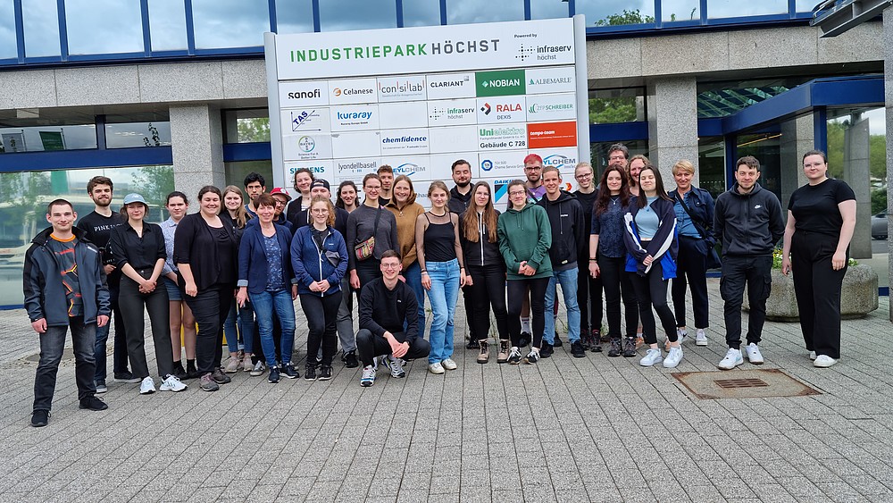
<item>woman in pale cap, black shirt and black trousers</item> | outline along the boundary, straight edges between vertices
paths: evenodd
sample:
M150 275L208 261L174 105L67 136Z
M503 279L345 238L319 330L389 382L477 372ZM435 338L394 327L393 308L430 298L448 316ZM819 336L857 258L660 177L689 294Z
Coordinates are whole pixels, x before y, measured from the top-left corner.
M122 272L118 306L127 323L127 354L130 365L133 365L133 375L143 380L139 385L139 392L143 395L155 392L155 383L146 364L144 309L148 311L149 323L152 324L155 363L162 378L161 390L186 390L186 385L173 375L173 351L168 333L171 306L168 304L167 289L158 285L167 257L164 234L158 225L143 222L147 209L146 199L139 194L124 197L121 214L126 215L127 222L115 227L109 240L115 267Z

